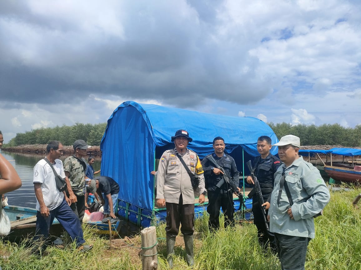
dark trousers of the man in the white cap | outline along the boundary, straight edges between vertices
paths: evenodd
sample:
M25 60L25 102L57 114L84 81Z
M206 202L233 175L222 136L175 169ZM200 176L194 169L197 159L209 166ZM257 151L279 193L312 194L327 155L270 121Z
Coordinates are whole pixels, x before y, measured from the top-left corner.
M282 270L304 270L311 238L274 234Z

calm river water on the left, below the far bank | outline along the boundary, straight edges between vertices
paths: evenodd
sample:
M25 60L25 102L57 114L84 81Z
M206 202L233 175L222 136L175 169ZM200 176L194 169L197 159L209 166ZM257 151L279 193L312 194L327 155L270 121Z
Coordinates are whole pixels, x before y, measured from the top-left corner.
M36 198L34 184L32 183L33 169L35 164L45 157L45 154L19 154L5 151L1 151L1 154L14 166L22 181L21 188L5 194L8 197L8 203L10 205L35 208ZM64 162L66 157L62 156L60 159ZM85 157L85 159L88 160L88 157ZM95 157L93 164L95 171L100 170L100 160L100 156Z

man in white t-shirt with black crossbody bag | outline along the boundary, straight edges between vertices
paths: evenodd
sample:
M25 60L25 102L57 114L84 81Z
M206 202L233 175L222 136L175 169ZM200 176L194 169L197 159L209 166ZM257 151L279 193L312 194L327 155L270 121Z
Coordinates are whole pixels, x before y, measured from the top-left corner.
M63 163L59 159L63 154L60 141L51 141L47 145L45 158L52 164L56 173L65 178ZM65 200L65 192L59 191L55 183L53 168L45 159L41 159L34 167L34 189L36 196L36 231L34 240L49 237L49 229L56 218L71 239L77 243L79 249L87 251L92 246L83 245L83 230L80 221L70 208L70 200Z

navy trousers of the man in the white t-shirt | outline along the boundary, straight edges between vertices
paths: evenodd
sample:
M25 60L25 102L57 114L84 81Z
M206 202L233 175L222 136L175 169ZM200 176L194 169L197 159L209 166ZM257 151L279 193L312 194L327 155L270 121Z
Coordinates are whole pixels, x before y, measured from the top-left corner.
M50 215L48 217L43 217L40 211L37 211L34 240L38 240L42 236L45 238L49 237L50 226L53 224L55 218L68 232L71 239L77 243L77 246L80 246L85 242L83 238L83 229L79 219L74 212L71 211L65 199L57 208L50 211Z

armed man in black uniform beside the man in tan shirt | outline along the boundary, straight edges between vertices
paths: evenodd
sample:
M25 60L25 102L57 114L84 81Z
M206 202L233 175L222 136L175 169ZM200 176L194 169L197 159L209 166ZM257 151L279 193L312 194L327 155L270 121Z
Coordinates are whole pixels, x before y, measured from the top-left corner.
M210 231L219 229L219 211L223 210L225 215L225 228L227 226L234 227L234 207L233 195L230 186L223 179L223 172L215 168L213 163L209 161L212 156L216 163L222 167L229 178L234 182L236 187L239 185L239 172L237 171L234 159L225 154L225 141L222 137L216 137L213 140L214 153L206 156L202 161L204 170L205 185L208 191L208 207L209 213L208 228ZM217 186L218 183L223 184ZM238 188L240 191L240 188Z

